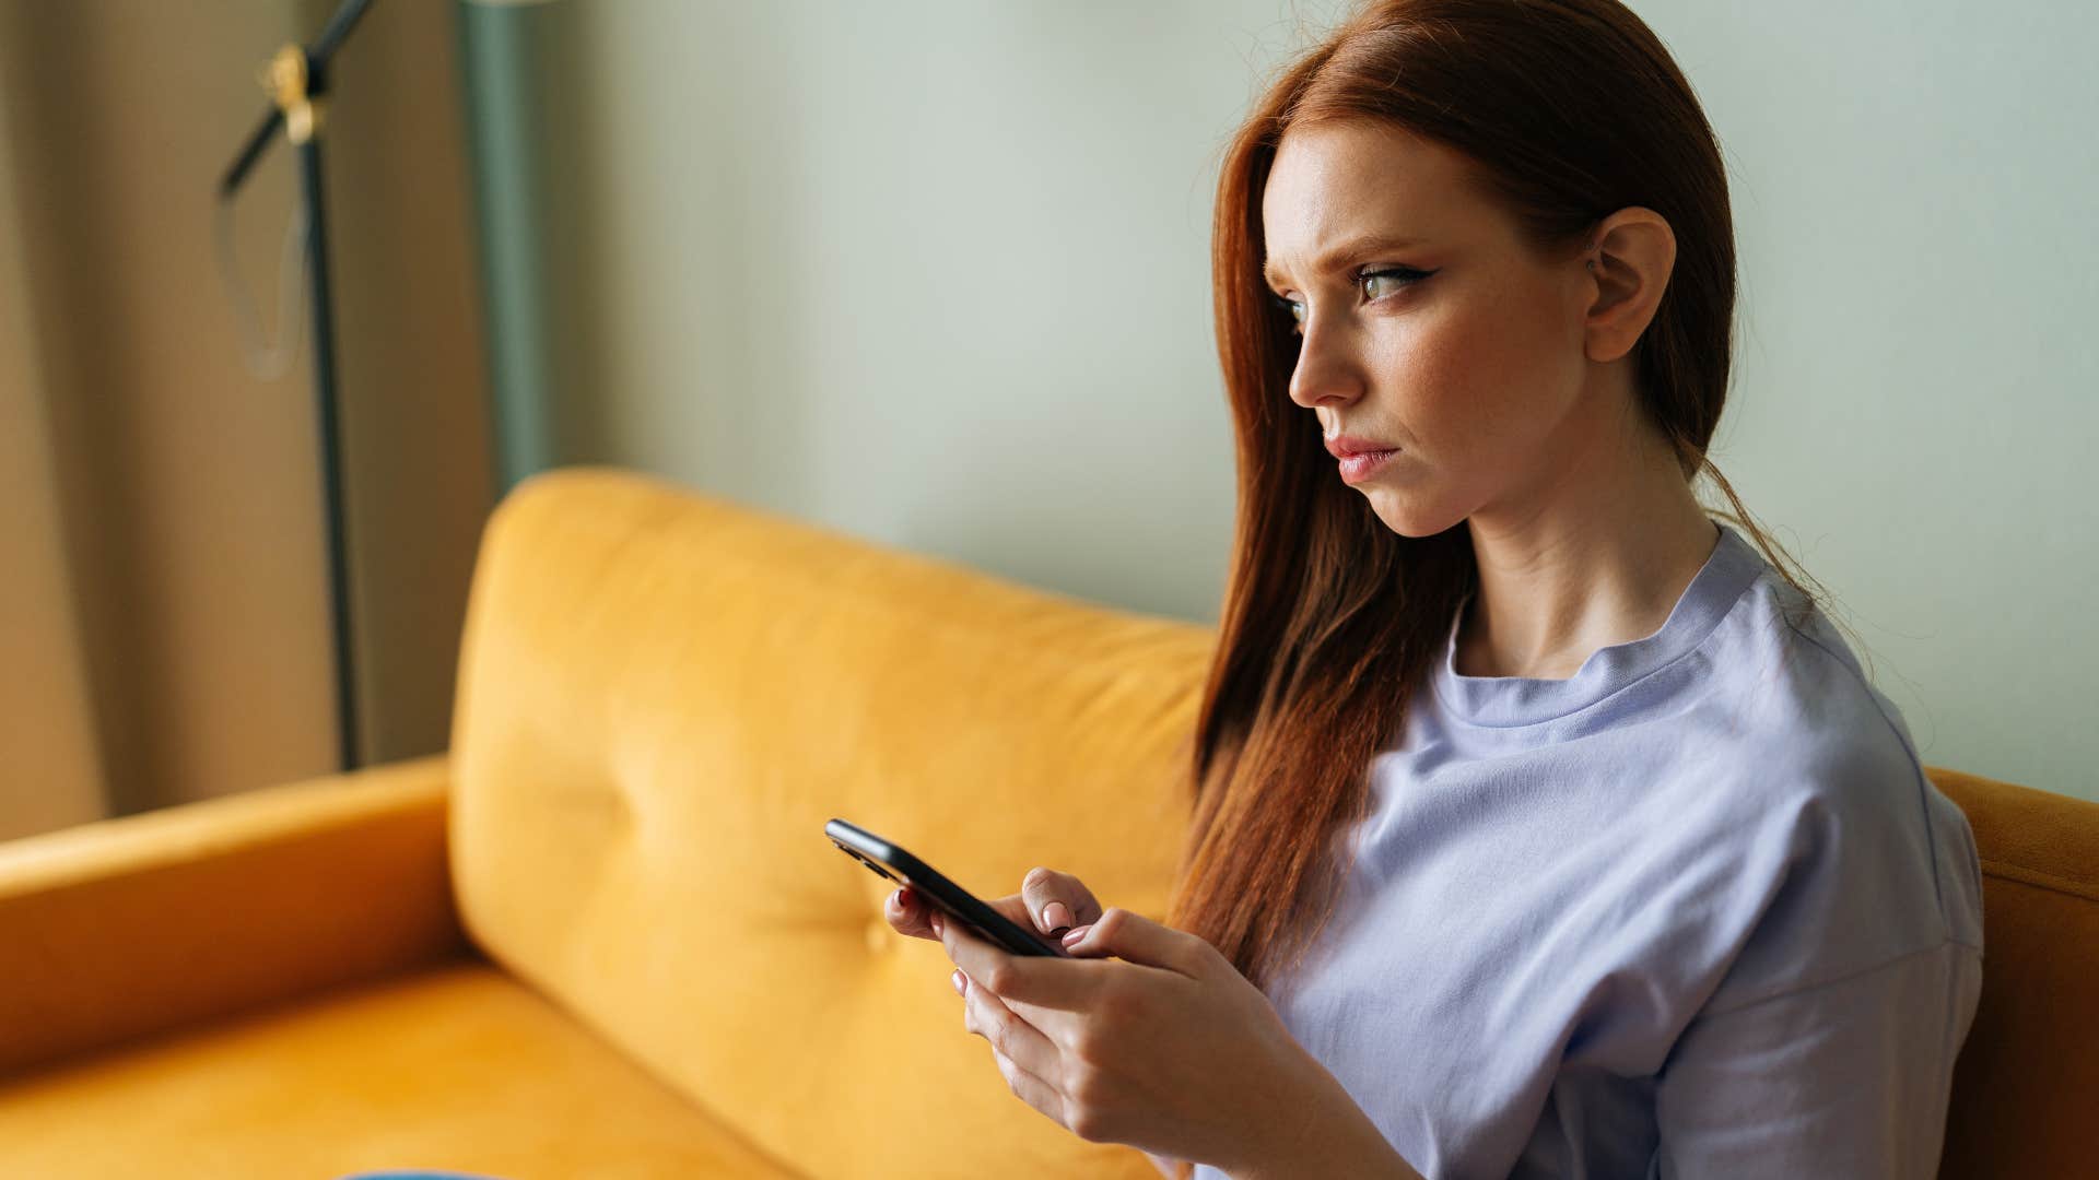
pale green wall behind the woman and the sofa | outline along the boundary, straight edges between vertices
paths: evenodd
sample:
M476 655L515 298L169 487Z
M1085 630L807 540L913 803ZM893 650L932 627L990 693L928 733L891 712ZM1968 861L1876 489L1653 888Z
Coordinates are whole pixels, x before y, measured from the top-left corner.
M2099 798L2099 10L1633 8L1730 166L1742 298L1715 460L1835 594L1925 762ZM476 10L544 111L544 332L497 349L560 376L510 428L539 454L512 462L632 464L1215 621L1217 153L1339 10Z

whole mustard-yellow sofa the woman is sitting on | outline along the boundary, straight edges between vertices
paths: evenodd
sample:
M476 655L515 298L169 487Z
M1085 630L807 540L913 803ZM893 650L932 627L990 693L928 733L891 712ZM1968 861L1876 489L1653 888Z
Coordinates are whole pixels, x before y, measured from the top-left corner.
M0 844L0 1178L1157 1176L1005 1090L823 823L1163 918L1211 642L535 477L447 754ZM1931 775L1988 873L1942 1176L2089 1176L2099 804Z

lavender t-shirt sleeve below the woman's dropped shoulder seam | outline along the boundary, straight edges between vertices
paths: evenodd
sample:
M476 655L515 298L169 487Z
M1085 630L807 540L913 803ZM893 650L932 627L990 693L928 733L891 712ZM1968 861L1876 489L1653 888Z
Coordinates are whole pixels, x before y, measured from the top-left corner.
M1981 953L1939 943L1700 1012L1656 1077L1650 1178L1933 1176Z

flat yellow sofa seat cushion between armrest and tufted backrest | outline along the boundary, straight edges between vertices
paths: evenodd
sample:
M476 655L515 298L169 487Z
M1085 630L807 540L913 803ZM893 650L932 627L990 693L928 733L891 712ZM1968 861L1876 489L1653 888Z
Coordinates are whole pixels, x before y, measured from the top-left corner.
M793 1176L485 960L0 1079L0 1176L409 1165Z

